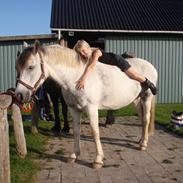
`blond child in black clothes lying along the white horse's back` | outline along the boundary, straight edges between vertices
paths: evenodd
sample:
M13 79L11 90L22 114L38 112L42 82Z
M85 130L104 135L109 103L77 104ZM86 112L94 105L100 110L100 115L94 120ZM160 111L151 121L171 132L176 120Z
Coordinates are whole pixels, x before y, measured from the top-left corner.
M134 68L132 68L131 65L122 56L116 55L114 53L106 53L99 48L90 47L90 45L85 40L79 40L74 46L74 50L76 50L81 55L85 62L89 60L84 73L77 81L77 89L84 88L84 83L87 76L94 68L96 62L99 61L105 64L115 65L119 67L129 78L140 82L143 91L150 88L153 95L157 94L157 88L155 85L146 77L139 74Z

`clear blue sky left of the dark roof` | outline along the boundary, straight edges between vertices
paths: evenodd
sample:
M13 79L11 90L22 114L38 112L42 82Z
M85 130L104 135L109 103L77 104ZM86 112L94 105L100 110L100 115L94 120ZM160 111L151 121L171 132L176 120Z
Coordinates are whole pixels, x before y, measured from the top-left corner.
M49 34L52 0L0 0L0 36Z

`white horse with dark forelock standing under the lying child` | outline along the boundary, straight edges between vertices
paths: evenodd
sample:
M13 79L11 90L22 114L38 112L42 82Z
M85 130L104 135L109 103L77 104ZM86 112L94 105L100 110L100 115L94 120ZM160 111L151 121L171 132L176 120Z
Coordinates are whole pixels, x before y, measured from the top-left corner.
M156 69L149 62L130 58L128 62L140 73L157 82ZM142 91L137 81L124 74L116 66L97 63L88 77L85 87L76 90L76 81L80 78L86 64L72 49L60 46L40 46L36 41L33 47L24 49L17 59L16 69L19 73L16 96L25 102L45 78L51 77L63 88L63 95L73 117L74 151L70 159L74 162L80 154L80 116L87 112L96 144L94 168L103 165L104 153L100 142L98 110L119 109L134 102L142 121L140 147L145 150L148 136L154 129L155 100L150 90Z

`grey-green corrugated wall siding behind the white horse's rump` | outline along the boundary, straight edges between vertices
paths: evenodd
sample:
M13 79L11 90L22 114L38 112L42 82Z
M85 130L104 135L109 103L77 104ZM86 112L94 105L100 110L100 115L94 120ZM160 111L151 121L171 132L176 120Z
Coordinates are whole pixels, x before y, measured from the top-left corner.
M158 71L158 103L182 102L183 38L165 36L106 37L105 50L130 51L151 62Z

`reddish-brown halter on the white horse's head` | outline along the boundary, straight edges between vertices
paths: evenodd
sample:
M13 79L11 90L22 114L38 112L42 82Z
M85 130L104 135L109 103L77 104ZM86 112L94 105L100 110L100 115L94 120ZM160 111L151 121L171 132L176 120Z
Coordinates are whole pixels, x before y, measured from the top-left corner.
M25 83L24 81L20 80L19 78L17 78L17 84L20 83L22 84L23 86L25 86L27 89L29 89L31 92L32 92L32 95L31 96L34 96L35 95L35 92L37 90L37 87L39 86L40 82L42 79L45 79L45 72L44 72L44 62L43 62L43 59L42 59L42 56L41 54L39 53L39 57L41 59L41 75L38 79L38 81L34 84L34 86L30 86L28 85L27 83Z

